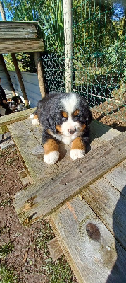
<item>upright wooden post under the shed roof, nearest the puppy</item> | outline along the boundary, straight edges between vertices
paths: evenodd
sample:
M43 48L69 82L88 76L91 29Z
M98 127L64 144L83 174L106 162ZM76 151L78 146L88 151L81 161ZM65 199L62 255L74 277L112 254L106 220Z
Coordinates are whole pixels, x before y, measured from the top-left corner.
M40 52L34 52L34 61L37 68L37 76L39 81L39 88L42 95L42 98L46 95L46 89L44 85L44 72L42 68L42 60L40 59Z

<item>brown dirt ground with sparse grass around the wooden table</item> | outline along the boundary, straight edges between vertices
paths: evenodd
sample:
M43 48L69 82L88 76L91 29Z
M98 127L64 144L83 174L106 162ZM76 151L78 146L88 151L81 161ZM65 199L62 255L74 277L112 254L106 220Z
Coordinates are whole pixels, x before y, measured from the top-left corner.
M92 110L93 117L123 132L124 108L116 115L102 109ZM100 113L100 114L99 114ZM46 221L30 227L20 224L13 207L13 195L24 188L18 174L24 168L15 146L0 151L0 280L1 283L77 283L64 256L53 262L47 243L54 237Z

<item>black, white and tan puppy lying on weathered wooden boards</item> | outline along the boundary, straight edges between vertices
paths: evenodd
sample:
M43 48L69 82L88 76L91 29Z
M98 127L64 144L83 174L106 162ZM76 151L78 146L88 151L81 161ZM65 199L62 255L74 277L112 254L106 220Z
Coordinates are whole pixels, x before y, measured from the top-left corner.
M37 104L32 124L42 124L44 161L58 161L59 142L70 144L70 158L82 158L89 142L89 124L92 113L83 96L77 93L49 93Z

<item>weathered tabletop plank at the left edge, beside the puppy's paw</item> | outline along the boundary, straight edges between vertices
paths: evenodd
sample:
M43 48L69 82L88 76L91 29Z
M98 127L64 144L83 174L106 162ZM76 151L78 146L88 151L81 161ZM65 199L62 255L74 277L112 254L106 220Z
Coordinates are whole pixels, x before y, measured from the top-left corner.
M51 175L53 168L46 166L46 163L44 163L44 149L42 145L39 144L39 141L37 141L23 121L8 125L8 129L15 144L18 146L18 150L25 161L25 166L31 177L37 181L40 178Z

